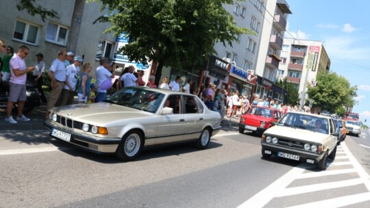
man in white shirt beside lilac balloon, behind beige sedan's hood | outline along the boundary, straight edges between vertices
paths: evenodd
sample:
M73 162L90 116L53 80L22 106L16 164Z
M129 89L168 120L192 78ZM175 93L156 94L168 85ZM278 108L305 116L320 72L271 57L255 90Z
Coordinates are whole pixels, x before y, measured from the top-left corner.
M114 78L114 74L110 73L110 71L107 68L110 68L109 61L106 57L102 57L99 61L100 66L97 68L96 71L96 86L98 88L97 90L97 96L95 97L95 103L99 103L106 99L107 90L101 90L100 86L103 81L106 79Z

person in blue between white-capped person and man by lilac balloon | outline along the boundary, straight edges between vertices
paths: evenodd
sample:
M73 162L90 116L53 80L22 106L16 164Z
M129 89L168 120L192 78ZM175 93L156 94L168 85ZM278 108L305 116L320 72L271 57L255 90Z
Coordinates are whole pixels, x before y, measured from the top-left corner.
M94 84L91 83L90 76L88 75L91 69L90 63L85 63L81 68L78 83L79 88L77 90L78 103L87 103L90 94L90 86L95 88Z

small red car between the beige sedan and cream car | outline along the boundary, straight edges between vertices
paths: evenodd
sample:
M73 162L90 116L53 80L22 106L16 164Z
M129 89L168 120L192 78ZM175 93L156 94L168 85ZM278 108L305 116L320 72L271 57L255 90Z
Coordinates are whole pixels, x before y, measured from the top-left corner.
M263 133L269 129L282 117L282 112L271 107L254 106L247 114L241 116L239 122L239 133L244 133L244 130L250 130L258 133Z

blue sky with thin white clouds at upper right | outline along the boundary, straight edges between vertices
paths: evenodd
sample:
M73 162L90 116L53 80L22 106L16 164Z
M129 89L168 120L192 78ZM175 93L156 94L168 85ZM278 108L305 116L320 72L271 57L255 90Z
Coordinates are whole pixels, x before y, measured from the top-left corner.
M322 40L331 61L330 70L357 86L354 112L370 126L370 1L286 0L285 37Z

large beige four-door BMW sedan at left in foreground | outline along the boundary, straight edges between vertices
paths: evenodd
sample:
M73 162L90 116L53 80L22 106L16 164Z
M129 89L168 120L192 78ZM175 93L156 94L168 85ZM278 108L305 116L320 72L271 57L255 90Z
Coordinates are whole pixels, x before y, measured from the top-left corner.
M130 161L147 146L193 141L208 146L221 116L195 95L146 87L124 88L105 101L50 110L53 138Z

